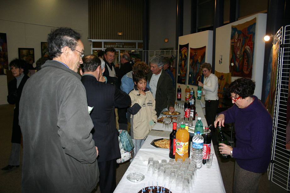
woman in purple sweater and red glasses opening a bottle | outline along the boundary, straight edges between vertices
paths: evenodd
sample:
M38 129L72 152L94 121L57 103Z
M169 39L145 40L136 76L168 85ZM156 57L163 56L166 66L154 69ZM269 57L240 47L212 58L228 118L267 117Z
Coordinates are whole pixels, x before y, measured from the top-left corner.
M255 83L248 78L233 81L228 92L234 106L220 113L215 127L235 123L236 147L220 143L220 153L236 159L233 192L258 192L262 173L271 158L272 117L254 96Z

